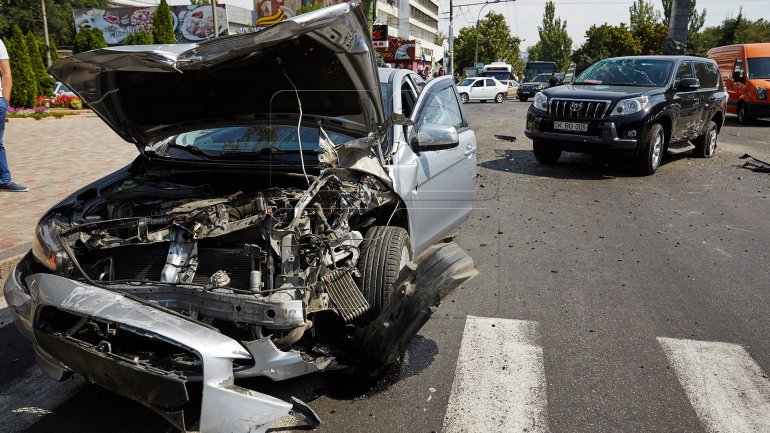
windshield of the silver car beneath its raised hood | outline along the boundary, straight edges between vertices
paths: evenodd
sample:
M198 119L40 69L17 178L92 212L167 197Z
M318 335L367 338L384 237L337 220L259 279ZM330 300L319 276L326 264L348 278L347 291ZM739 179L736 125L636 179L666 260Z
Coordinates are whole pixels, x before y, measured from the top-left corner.
M321 152L318 127L300 127L303 153ZM353 137L325 131L339 145ZM272 157L275 154L299 154L300 140L296 126L237 125L187 131L166 137L149 146L155 155L176 159L244 159Z

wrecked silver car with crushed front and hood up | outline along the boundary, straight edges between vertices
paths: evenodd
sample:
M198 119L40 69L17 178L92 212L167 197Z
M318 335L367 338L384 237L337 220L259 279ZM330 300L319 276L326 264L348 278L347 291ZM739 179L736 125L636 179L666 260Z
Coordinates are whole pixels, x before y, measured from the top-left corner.
M316 425L236 381L393 363L475 274L448 239L476 172L452 79L378 70L355 5L51 72L140 152L44 215L5 283L52 378L81 374L180 430L192 383L201 432L289 412Z

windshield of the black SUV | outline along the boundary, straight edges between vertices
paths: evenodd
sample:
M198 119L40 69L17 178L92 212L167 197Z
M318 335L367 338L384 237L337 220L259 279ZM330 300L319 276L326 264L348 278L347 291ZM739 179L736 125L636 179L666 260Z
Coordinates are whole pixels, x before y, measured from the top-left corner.
M573 84L663 87L673 65L672 60L606 59L583 71Z

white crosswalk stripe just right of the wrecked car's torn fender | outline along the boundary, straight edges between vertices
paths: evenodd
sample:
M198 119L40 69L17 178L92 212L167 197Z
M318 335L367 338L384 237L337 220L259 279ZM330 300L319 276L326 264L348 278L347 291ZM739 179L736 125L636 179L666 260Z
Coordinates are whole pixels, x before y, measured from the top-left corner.
M468 316L444 432L548 432L537 340L537 322Z

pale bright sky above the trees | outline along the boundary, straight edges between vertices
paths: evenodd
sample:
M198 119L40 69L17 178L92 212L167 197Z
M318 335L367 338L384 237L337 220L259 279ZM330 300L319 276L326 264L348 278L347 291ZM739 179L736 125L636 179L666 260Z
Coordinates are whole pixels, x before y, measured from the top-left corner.
M457 36L462 27L475 25L481 11L482 17L493 10L503 14L511 28L511 33L523 39L522 50L534 45L539 40L537 28L543 22L543 12L546 0L515 0L483 6L460 6L463 4L482 3L484 0L454 0L454 34ZM573 48L578 48L585 42L585 32L593 24L605 22L618 25L628 24L628 9L634 0L554 0L556 17L567 21L567 32L572 38ZM439 30L449 34L449 0L440 0ZM653 4L662 11L662 2L653 0ZM719 25L725 18L735 17L743 7L743 16L757 20L770 18L768 0L697 0L698 10L706 9L706 24L704 27ZM446 12L446 13L445 13Z

